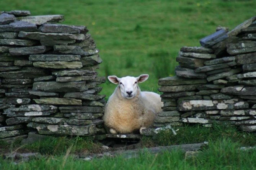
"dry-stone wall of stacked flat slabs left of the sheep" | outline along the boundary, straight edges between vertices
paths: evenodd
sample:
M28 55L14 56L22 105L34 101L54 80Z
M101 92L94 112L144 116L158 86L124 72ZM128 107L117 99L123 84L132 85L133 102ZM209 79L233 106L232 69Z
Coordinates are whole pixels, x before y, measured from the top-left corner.
M57 24L62 15L29 15L0 12L0 139L104 133L105 78L88 30Z

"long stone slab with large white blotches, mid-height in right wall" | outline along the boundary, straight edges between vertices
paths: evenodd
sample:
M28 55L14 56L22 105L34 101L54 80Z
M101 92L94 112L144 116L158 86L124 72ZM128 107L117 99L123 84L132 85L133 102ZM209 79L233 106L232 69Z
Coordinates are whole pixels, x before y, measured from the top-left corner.
M214 109L246 109L249 104L239 99L184 100L178 103L179 111L200 111Z

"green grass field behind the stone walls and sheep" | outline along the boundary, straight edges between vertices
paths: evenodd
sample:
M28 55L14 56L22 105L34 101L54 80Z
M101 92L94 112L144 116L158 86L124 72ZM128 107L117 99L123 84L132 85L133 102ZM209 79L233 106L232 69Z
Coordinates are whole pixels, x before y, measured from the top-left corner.
M200 46L217 26L233 29L256 15L254 0L2 0L0 7L63 14L63 24L87 26L103 59L99 75L149 74L140 85L147 91L157 91L159 78L174 75L181 47ZM108 97L115 85L102 87Z

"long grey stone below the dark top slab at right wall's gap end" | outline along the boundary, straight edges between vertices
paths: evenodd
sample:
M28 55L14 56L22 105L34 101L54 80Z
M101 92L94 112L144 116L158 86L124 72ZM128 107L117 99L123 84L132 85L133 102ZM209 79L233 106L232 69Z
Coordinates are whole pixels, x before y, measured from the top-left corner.
M196 90L200 84L194 85L176 85L176 86L162 86L158 89L160 92L180 92Z

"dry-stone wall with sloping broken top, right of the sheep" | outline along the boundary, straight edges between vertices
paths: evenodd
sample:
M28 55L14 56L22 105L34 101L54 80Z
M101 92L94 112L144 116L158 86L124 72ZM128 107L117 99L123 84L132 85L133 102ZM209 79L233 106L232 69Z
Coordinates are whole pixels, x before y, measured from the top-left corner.
M164 102L155 126L230 123L256 131L256 16L182 47L174 77L159 80Z

